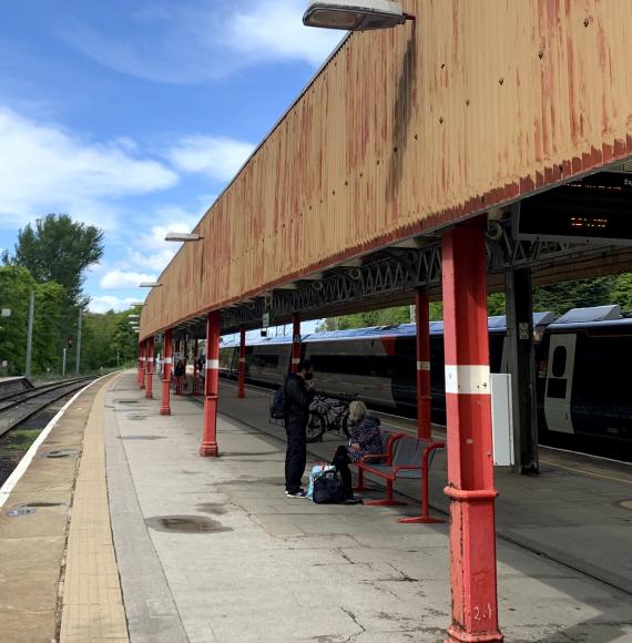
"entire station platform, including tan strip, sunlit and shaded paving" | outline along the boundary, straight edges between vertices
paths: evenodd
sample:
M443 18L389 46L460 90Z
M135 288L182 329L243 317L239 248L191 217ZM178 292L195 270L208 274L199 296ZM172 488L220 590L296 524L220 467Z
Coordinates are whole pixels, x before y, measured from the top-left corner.
M415 486L396 486L410 499L402 508L286 498L283 429L267 422L267 394L247 396L237 400L222 384L216 459L198 456L201 405L174 397L172 416L160 416L135 371L79 396L6 493L2 640L441 641L448 525L396 521L417 512ZM310 445L308 467L337 441ZM51 451L68 456L45 458ZM441 458L431 489L439 510ZM619 540L630 534L630 481L625 471L606 479L571 468L551 466L550 478L532 482L498 476L507 641L632 641L632 595L621 582L630 579L630 539ZM14 513L29 503L35 511ZM598 525L615 518L621 533L613 529L609 551L590 563L601 575L608 568L612 582L555 560L558 551L590 558L605 533ZM573 549L581 540L585 557Z

